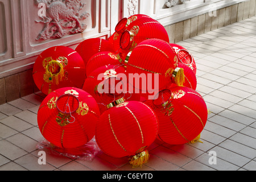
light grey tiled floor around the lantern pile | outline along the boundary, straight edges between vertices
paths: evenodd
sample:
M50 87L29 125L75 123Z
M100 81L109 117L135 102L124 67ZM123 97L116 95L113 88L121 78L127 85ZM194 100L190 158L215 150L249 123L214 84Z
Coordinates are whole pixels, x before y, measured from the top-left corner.
M256 18L177 44L194 56L197 91L211 111L203 143L156 140L142 168L102 151L93 160L47 154L46 165L39 165L36 144L43 137L36 113L43 97L37 93L0 106L0 170L256 170ZM209 163L210 151L216 164Z

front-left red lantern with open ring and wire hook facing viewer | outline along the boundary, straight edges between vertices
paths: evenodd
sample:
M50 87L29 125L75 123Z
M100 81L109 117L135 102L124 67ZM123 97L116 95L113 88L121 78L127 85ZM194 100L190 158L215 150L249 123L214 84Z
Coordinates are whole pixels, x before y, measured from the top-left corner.
M75 148L94 137L99 116L90 94L77 88L60 88L44 98L38 110L38 126L43 137L55 146Z

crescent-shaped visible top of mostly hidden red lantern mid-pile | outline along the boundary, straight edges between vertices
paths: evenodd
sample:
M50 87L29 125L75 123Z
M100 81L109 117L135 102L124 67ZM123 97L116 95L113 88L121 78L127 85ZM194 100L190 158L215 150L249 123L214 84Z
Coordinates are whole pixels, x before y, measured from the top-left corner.
M86 65L86 75L90 75L95 69L105 65L120 65L117 56L113 52L98 52L90 57Z

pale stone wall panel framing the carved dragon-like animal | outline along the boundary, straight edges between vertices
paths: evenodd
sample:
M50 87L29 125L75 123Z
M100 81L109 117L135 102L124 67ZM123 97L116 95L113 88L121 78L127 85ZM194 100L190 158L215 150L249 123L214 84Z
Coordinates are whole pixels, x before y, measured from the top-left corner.
M108 32L101 34L100 31L102 1L24 1L24 7L28 11L25 18L28 51L39 51L55 45L70 46L82 39L108 35Z

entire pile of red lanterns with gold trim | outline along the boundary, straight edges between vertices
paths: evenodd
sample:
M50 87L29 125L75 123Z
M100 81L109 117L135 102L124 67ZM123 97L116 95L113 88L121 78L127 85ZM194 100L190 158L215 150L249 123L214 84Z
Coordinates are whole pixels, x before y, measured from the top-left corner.
M46 49L33 77L47 95L38 110L40 132L63 150L95 137L105 154L128 156L137 167L155 139L193 143L207 122L195 59L147 15L123 18L108 40Z

